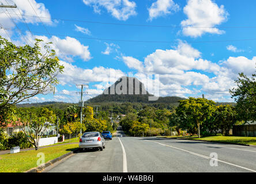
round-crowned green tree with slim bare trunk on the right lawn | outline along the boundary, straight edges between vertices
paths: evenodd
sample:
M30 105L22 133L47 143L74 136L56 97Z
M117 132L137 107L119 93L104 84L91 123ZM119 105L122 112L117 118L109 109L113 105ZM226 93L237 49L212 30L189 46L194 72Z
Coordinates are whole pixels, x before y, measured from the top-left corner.
M176 113L179 116L186 114L187 121L197 125L198 137L200 137L200 125L212 117L216 111L215 102L205 98L192 98L181 100Z

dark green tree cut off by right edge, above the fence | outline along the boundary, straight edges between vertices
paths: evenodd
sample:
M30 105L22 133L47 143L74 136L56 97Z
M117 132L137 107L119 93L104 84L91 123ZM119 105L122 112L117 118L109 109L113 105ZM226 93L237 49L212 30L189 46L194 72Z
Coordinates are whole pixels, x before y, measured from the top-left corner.
M251 79L243 73L235 83L238 85L236 88L229 90L232 97L235 98L236 112L239 114L240 120L256 120L256 74L253 74Z

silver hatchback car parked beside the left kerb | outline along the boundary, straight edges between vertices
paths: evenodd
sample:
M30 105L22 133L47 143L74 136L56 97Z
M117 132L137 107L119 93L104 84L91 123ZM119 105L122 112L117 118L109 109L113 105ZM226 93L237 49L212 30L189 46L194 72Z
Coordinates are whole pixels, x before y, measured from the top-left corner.
M79 148L100 148L102 151L106 147L106 140L100 132L86 132L79 141Z

